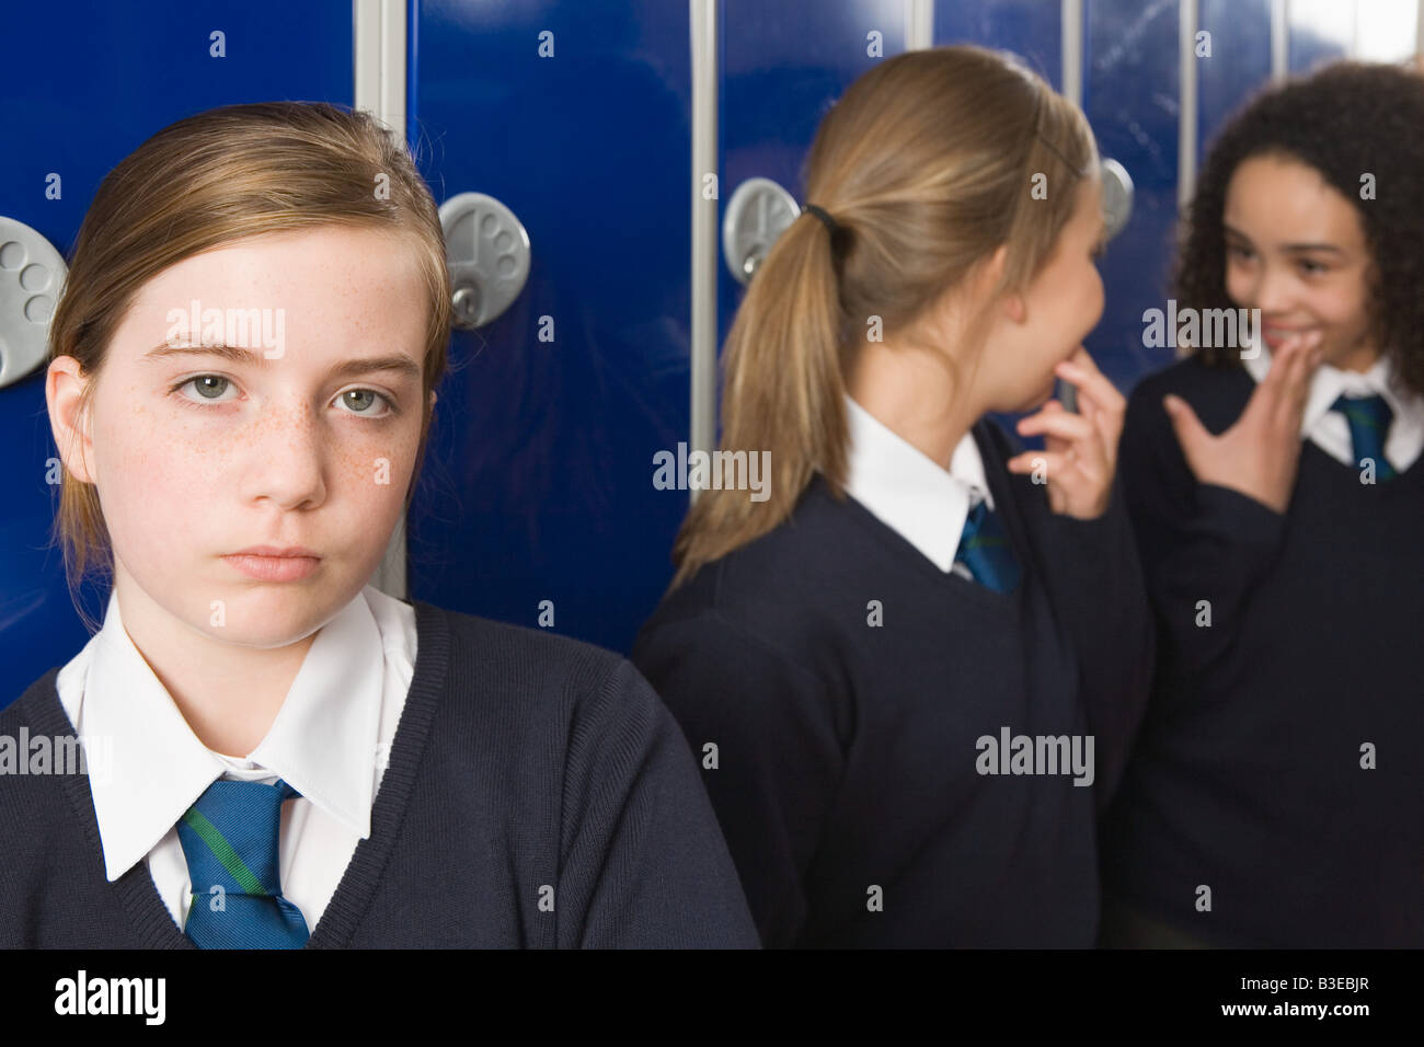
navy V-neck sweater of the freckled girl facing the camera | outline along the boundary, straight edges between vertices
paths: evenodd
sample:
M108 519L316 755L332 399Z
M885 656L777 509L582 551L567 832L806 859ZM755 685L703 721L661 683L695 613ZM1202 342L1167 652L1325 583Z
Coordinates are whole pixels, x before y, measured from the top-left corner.
M627 661L414 608L372 835L306 947L756 946L686 741ZM57 672L0 734L74 734ZM105 880L83 775L0 776L0 947L34 946L192 947L147 863Z

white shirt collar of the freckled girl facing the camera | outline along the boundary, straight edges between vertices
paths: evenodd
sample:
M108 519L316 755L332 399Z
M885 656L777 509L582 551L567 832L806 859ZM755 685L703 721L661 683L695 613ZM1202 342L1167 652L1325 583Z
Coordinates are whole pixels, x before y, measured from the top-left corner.
M124 630L118 594L111 593L104 627L57 679L85 752L107 756L90 791L108 879L152 850L228 772L275 773L363 839L370 836L383 665L380 630L365 593L357 594L318 631L266 736L234 764L188 726Z

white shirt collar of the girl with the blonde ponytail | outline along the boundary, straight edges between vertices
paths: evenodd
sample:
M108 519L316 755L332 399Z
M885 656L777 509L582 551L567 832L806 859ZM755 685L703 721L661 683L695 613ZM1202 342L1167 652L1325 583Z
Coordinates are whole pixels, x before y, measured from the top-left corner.
M977 501L994 509L974 434L964 433L946 472L849 396L846 420L846 493L941 571L970 577L954 563L964 521Z

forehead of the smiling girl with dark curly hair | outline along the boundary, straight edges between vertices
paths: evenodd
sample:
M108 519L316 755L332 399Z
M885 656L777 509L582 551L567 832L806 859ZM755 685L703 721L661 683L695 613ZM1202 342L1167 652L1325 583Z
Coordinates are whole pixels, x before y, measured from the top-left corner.
M1316 168L1289 157L1242 161L1226 187L1225 219L1242 232L1290 241L1356 242L1360 218Z

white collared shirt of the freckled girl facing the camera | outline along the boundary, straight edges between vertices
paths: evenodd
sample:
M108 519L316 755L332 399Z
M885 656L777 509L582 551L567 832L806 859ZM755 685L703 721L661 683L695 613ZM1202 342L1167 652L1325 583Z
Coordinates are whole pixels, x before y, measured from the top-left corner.
M370 836L414 661L414 608L366 585L318 631L261 744L246 759L225 756L188 726L111 593L104 627L56 679L88 758L107 877L147 859L182 929L192 897L178 819L218 778L282 778L300 793L282 805L282 896L315 930L356 845Z

